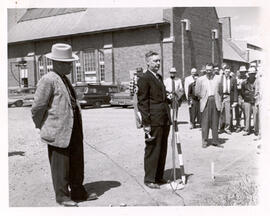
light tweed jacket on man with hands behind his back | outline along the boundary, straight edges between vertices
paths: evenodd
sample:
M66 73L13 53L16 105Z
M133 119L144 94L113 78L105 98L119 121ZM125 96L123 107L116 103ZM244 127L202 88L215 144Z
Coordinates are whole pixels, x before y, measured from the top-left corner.
M80 111L77 100L76 104ZM49 72L39 80L31 112L36 128L40 129L42 142L60 148L68 147L74 113L67 88L55 72Z

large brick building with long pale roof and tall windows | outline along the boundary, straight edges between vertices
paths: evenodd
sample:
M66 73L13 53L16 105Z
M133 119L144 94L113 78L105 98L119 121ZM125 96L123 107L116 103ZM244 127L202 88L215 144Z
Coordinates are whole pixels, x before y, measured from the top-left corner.
M183 78L223 59L214 7L9 9L8 86L35 86L52 70L44 55L57 42L80 57L73 83L128 82L129 71L145 68L149 50L160 53L165 78L172 66Z

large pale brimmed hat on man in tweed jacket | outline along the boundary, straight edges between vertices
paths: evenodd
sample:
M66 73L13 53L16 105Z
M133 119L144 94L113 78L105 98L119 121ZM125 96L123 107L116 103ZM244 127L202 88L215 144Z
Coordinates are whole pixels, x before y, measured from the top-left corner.
M72 53L72 48L68 44L57 43L52 45L52 52L45 55L47 58L55 61L71 62L79 57Z

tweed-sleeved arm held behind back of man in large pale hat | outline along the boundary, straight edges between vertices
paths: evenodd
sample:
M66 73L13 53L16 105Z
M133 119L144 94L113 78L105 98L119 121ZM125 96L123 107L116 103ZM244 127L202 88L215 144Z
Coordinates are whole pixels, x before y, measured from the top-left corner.
M53 94L53 83L47 77L42 77L38 83L37 90L32 105L32 119L36 128L41 129Z

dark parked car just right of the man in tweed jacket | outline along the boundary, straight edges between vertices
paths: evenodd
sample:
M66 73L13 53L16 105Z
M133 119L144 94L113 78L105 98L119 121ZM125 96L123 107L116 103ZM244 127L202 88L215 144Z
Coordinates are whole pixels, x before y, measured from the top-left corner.
M77 84L74 88L82 108L110 104L110 95L118 92L116 85Z

